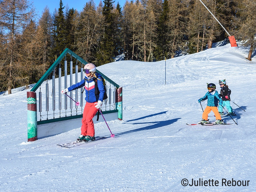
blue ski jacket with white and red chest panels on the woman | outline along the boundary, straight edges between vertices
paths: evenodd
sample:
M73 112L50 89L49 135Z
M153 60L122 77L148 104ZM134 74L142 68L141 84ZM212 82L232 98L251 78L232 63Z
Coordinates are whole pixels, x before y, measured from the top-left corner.
M100 74L96 73L95 75L99 79L102 79ZM94 82L93 79L95 79L95 77L90 79L87 76L85 76L85 78L82 81L80 81L79 83L73 84L70 87L68 87L68 91L72 91L72 90L84 87L85 88L85 100L86 100L86 102L94 103L98 100L103 101L103 96L104 96L104 93L105 93L103 82L100 81L99 79L97 79L97 85L98 85L98 89L99 89L100 94L95 95L95 82Z

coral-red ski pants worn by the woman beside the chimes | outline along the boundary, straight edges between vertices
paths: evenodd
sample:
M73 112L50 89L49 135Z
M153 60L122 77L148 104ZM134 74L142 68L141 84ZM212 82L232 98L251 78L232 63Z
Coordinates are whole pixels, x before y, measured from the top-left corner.
M81 127L82 135L84 136L89 135L94 137L95 130L94 130L94 124L93 124L92 118L96 115L98 110L99 109L95 107L94 103L86 102L84 106L84 113L83 113L82 127Z

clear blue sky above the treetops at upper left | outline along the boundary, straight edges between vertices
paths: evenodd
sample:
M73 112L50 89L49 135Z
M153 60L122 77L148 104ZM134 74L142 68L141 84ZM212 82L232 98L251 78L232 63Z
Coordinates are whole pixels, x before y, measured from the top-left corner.
M38 15L40 16L44 10L44 7L46 5L49 7L50 12L52 13L54 9L56 8L57 10L59 9L60 6L60 0L29 0L29 2L34 2L34 6L36 7L36 11L38 12ZM103 0L101 0L103 3ZM115 0L114 4L119 4L121 7L124 6L126 0ZM68 4L68 7L77 9L78 11L81 11L86 2L89 2L89 0L62 0L63 6L66 6ZM129 0L130 2L130 0ZM100 3L100 0L94 0L94 3L96 6Z

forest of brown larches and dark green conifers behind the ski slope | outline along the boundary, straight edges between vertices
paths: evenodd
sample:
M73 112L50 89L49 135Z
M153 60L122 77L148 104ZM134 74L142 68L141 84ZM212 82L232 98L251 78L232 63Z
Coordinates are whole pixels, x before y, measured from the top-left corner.
M170 59L228 37L199 0L135 0L123 8L114 2L96 6L89 0L77 11L65 9L60 0L58 10L51 13L46 6L37 15L28 0L0 0L0 92L36 83L65 48L100 66L120 54L125 60ZM248 47L250 60L256 47L256 1L203 2L239 45ZM58 68L54 73L58 77Z

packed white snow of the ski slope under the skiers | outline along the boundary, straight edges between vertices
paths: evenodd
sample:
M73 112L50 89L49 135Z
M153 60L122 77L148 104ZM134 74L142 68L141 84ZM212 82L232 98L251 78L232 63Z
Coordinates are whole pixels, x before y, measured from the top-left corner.
M123 87L123 120L106 119L114 138L105 122L95 123L95 136L107 139L74 148L56 144L76 140L81 127L28 142L30 89L2 93L0 191L256 191L256 59L247 55L226 44L166 61L98 67ZM220 92L220 79L232 91L238 125L229 116L223 119L231 125L187 125L202 119L198 99L207 83ZM212 112L209 119L215 121Z

